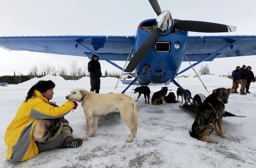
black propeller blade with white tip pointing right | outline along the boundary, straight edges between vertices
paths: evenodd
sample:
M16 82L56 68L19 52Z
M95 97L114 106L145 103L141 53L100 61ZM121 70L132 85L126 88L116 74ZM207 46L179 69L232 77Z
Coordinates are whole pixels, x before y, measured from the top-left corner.
M192 21L192 20L174 21L174 27L180 30L205 32L205 33L236 31L235 26L229 26L225 24L211 23L211 22Z

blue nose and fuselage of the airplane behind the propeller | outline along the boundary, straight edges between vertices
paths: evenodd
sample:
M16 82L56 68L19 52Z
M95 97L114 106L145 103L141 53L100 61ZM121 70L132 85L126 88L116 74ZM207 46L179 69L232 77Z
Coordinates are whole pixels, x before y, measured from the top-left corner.
M134 39L133 54L154 31L155 19L142 21ZM147 56L135 69L140 85L165 83L175 77L184 58L188 31L161 34Z

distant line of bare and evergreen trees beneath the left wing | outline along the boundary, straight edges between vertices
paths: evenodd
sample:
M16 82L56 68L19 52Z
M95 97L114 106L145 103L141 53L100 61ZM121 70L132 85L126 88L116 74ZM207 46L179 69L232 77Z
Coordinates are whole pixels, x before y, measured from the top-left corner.
M30 80L34 77L43 77L46 75L59 75L63 77L65 80L78 80L84 76L89 76L89 72L87 70L87 66L85 65L83 68L79 67L76 61L72 61L69 64L69 67L65 66L56 66L51 65L50 63L42 63L40 66L34 65L28 74L16 74L14 71L13 75L3 75L0 76L0 82L8 83L8 84L18 84L22 83L24 81ZM105 70L104 73L102 73L102 77L120 77L120 72L108 72Z

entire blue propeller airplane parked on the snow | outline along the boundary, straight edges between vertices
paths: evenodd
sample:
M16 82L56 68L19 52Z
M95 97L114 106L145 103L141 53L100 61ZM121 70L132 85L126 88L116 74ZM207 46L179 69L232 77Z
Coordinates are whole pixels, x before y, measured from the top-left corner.
M97 55L101 60L123 70L123 76L131 75L128 87L172 82L192 66L215 58L256 55L254 35L188 36L194 32L232 32L236 27L173 19L168 10L161 11L157 0L149 0L157 19L139 23L135 36L19 36L0 37L0 47L7 50L31 51L71 56ZM129 63L124 69L113 61ZM197 61L179 71L182 61ZM125 83L126 81L124 81Z

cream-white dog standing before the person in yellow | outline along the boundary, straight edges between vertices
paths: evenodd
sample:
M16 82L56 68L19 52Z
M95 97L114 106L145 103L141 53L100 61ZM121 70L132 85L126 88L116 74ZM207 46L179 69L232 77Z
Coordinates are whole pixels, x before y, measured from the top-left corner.
M97 131L98 116L116 111L120 112L123 121L130 129L130 137L126 142L132 142L138 127L138 114L136 104L131 97L124 94L97 94L83 89L74 89L66 96L67 100L81 102L86 115L86 141L94 137ZM91 119L93 117L93 131L90 134Z

